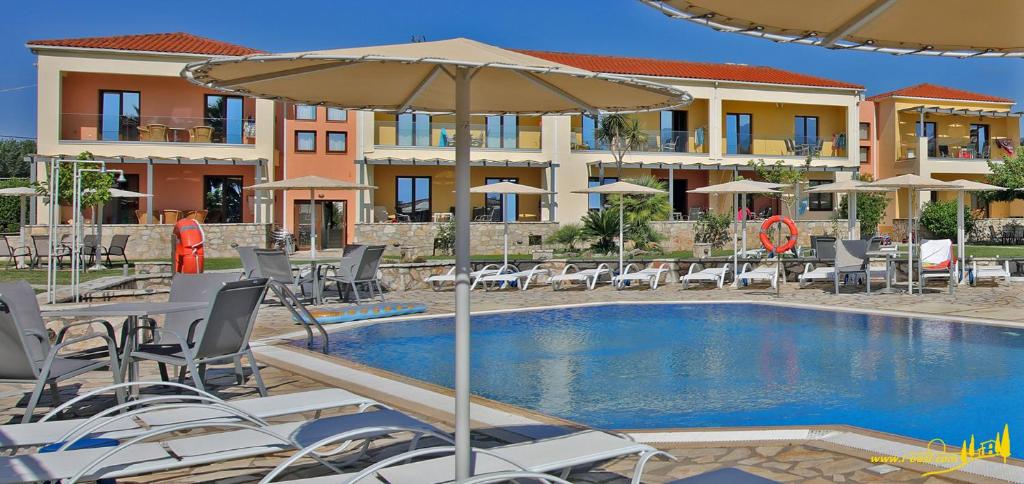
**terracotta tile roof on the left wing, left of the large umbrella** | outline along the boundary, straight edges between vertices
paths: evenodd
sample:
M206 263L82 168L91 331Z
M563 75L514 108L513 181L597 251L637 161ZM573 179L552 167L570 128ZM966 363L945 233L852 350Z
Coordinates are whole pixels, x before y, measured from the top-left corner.
M83 37L78 39L32 40L31 46L76 47L85 49L135 50L140 52L166 52L207 55L248 55L263 53L261 50L208 39L184 32L167 34L121 35L112 37Z

